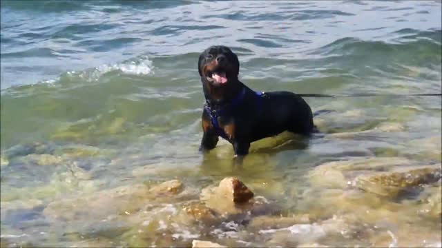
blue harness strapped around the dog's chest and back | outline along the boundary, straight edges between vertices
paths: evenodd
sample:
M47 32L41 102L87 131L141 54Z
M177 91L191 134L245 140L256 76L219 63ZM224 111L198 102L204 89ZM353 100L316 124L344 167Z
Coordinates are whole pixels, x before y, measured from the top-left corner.
M210 116L210 120L211 123L213 125L213 127L215 128L215 132L218 134L218 136L221 136L222 138L224 138L225 140L229 140L229 138L227 137L226 133L224 132L224 130L222 130L222 128L220 127L220 125L218 124L218 117L219 116L225 116L227 115L227 113L231 110L233 110L236 105L238 105L242 99L244 99L244 95L246 93L246 89L242 88L240 94L238 94L238 96L236 96L235 99L233 99L231 101L231 103L227 104L226 107L220 109L220 110L211 110L211 108L209 107L209 102L206 101L206 105L204 105L204 111L209 114ZM256 96L258 96L258 110L261 109L261 96L264 94L264 92L255 92Z

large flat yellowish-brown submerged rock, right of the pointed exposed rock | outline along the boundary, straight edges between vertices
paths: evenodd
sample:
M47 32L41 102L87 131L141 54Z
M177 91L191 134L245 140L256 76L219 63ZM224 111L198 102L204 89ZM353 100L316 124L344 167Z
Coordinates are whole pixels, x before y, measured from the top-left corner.
M395 197L441 178L440 165L412 166L413 163L401 157L333 161L309 172L309 180L313 187L344 189L351 185L365 192Z

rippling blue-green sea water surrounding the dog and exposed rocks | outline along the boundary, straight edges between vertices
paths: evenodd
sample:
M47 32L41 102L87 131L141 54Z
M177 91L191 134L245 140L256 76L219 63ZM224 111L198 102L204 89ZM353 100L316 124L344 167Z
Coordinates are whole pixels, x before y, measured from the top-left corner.
M1 247L441 247L440 96L306 98L332 110L315 119L322 134L253 143L238 168L226 141L198 152L197 68L205 48L227 45L257 91L441 93L441 12L441 1L2 0ZM265 210L185 211L227 176ZM168 180L184 192L157 195Z

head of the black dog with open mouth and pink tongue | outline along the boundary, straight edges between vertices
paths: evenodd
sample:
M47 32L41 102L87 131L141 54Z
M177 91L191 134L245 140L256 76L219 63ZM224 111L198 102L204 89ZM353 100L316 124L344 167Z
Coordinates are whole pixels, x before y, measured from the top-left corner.
M240 61L238 56L223 45L214 45L200 54L198 72L201 80L215 87L238 81Z

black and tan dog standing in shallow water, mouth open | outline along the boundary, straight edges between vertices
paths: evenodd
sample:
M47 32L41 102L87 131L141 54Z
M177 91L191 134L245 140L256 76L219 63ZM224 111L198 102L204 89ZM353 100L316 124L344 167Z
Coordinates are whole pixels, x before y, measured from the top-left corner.
M257 93L238 80L238 56L225 46L200 54L198 72L206 103L200 150L213 149L218 136L233 145L235 156L249 153L250 143L284 131L308 135L315 130L309 105L292 92Z

